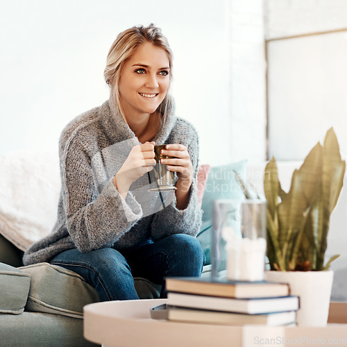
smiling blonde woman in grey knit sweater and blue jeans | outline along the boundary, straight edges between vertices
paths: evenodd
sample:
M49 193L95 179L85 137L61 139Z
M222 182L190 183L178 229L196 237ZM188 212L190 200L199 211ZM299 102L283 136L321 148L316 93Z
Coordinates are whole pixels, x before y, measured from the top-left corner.
M205 256L195 236L198 136L174 115L172 53L151 24L120 33L108 53L110 100L71 121L60 137L58 219L24 264L50 262L79 273L101 301L137 299L133 276L162 285L167 276L200 276ZM176 190L149 192L154 144Z

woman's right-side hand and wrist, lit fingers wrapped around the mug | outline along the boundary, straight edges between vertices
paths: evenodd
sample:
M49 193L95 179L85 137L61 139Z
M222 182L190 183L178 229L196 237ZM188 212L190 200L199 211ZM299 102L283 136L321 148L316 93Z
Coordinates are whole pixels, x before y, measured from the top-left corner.
M187 147L183 144L167 144L161 153L174 157L160 161L162 164L167 164L169 171L177 174L176 207L183 210L189 203L190 187L193 182L193 165Z

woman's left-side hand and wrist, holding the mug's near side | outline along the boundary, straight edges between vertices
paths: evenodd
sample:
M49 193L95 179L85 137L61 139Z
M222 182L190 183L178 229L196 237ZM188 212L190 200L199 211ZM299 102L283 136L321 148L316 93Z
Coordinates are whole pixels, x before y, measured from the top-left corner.
M155 142L146 142L134 146L117 172L115 185L124 198L128 194L130 185L155 166L154 144Z

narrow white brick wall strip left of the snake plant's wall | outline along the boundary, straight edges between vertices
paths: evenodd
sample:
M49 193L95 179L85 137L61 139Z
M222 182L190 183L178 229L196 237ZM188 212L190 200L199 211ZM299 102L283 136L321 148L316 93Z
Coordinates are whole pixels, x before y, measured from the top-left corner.
M266 61L264 8L260 0L231 0L230 155L266 160Z

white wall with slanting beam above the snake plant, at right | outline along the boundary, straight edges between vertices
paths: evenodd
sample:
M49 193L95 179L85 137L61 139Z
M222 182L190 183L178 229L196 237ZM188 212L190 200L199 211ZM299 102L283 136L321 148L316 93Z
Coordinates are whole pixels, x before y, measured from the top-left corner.
M266 1L269 154L278 160L303 160L332 126L347 157L346 13L344 0Z

